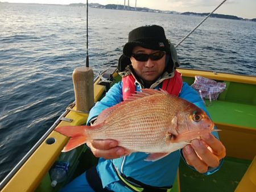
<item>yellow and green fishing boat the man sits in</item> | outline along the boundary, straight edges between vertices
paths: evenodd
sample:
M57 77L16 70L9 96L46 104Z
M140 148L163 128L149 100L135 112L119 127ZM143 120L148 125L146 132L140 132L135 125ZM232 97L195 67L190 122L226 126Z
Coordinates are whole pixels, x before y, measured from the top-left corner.
M85 67L84 67L85 68ZM225 82L226 90L217 100L207 105L213 122L219 132L220 140L226 147L224 164L218 172L204 176L189 169L181 160L173 191L236 191L256 190L256 76L216 73L203 70L178 68L183 81L189 85L195 76L206 77L217 82ZM93 97L99 101L116 82L121 81L117 68L109 68L92 80ZM208 103L208 99L205 99ZM64 182L51 186L52 166L61 156L68 137L54 131L60 126L78 126L86 123L88 112L77 111L77 103L71 106L56 120L46 134L30 152L19 162L12 172L0 183L1 192L10 191L59 191L73 178L97 164L98 159L85 145L78 147L73 156Z

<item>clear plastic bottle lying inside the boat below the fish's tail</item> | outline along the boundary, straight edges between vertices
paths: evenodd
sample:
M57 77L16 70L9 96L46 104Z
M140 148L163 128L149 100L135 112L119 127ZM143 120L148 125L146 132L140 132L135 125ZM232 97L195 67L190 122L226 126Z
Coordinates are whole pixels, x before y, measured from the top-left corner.
M55 162L50 171L52 187L55 187L57 183L67 180L68 170L76 159L76 152L77 150L73 149L72 151L61 153L59 160Z

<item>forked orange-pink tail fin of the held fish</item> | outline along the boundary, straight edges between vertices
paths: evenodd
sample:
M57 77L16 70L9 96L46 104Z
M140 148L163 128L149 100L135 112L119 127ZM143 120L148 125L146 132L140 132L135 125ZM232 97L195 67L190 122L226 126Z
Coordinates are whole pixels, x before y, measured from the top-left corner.
M80 145L86 143L86 128L89 126L64 126L64 127L57 127L55 131L71 137L69 139L68 144L64 147L62 152L68 152L72 149L79 147Z

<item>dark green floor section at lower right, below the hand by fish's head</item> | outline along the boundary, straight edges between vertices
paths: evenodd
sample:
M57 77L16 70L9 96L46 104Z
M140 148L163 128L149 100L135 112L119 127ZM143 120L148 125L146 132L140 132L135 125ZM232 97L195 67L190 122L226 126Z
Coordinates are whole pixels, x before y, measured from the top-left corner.
M249 167L250 160L226 157L218 172L204 176L188 168L181 160L180 189L182 192L233 192Z

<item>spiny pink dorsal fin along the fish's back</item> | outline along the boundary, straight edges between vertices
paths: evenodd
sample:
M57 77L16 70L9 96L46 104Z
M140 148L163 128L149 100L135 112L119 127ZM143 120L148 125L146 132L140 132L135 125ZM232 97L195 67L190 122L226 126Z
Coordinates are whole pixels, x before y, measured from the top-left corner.
M102 123L106 120L106 118L108 118L108 116L110 114L112 114L112 112L114 112L115 110L117 110L117 108L126 105L127 103L131 102L131 101L135 101L137 99L143 98L143 97L147 97L149 95L154 95L154 94L168 94L166 91L160 89L159 90L155 90L155 89L141 89L141 91L136 91L137 94L132 94L131 96L129 96L126 101L123 101L121 103L118 103L117 105L114 105L113 107L109 107L106 108L104 111L101 112L100 115L98 115L97 118L97 123Z

